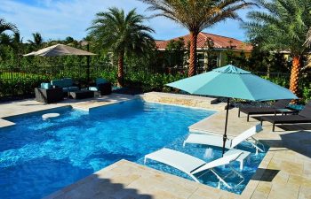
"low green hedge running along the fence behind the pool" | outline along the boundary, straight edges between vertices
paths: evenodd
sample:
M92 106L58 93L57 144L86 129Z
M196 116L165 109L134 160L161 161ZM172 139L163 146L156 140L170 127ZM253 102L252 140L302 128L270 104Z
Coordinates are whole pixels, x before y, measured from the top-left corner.
M71 77L70 74L67 74ZM74 75L75 76L75 75ZM109 80L116 85L116 70L103 71L99 76ZM145 71L136 71L125 73L125 86L131 88L140 88L143 92L148 91L163 91L171 92L172 88L165 87L164 85L172 81L181 80L187 77L187 73L165 74L165 73L148 73ZM59 78L59 77L55 77ZM0 97L7 96L29 96L34 95L34 88L39 87L41 82L49 82L55 79L47 76L28 76L23 79L1 80L0 79ZM263 77L266 78L267 77ZM94 80L95 77L92 77ZM85 78L75 79L81 82L81 86L86 86ZM289 87L289 80L284 78L270 78L276 84L285 88ZM300 96L304 102L311 99L311 83L308 77L300 80L301 93Z

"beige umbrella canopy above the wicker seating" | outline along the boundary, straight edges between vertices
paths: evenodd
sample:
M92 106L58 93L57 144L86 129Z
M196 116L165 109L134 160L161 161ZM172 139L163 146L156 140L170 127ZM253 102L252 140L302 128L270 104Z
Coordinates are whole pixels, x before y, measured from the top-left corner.
M43 56L43 57L57 57L57 56L94 56L96 54L84 50L79 50L64 44L56 44L36 52L28 53L24 56Z

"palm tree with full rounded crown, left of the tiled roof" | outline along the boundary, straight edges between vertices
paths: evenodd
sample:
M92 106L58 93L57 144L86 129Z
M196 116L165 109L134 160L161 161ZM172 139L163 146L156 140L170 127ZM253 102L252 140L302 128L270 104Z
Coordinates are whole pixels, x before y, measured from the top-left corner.
M125 15L123 10L110 8L96 14L96 19L89 27L95 42L108 50L113 50L118 57L118 86L124 86L124 56L144 55L155 47L150 35L154 30L142 23L146 18L133 9Z

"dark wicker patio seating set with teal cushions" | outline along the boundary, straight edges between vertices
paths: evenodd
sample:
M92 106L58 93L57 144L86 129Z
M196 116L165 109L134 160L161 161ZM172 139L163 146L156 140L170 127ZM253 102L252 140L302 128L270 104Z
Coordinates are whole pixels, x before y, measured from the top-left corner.
M111 83L102 78L88 88L80 89L70 78L51 80L51 83L41 83L40 88L35 88L36 101L42 103L57 103L64 97L73 99L92 98L94 96L106 96L112 92Z

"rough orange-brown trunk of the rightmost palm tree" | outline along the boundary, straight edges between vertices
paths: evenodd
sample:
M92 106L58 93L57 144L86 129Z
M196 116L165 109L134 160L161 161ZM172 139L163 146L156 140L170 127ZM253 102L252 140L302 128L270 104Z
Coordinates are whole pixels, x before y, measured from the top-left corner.
M300 57L294 56L292 58L292 65L291 65L291 80L290 80L290 90L296 96L299 92L299 72L300 72Z

